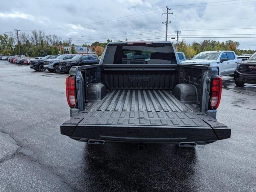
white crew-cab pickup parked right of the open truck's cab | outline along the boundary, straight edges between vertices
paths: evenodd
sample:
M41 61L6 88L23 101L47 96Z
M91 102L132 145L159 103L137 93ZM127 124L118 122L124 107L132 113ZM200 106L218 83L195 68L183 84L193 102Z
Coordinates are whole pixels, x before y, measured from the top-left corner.
M234 51L204 51L181 63L216 67L219 76L225 76L234 74L238 60Z

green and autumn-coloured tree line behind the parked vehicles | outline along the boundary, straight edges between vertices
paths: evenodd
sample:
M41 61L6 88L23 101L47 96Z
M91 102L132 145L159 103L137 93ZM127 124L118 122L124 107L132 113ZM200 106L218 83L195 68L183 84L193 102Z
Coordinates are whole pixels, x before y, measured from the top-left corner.
M127 41L128 39L126 39ZM101 56L106 45L112 40L107 39L106 42L100 43L98 41L91 45L83 44L85 47L92 47L92 51L95 51L98 56ZM68 41L63 41L58 35L48 34L43 31L31 31L31 34L21 32L19 35L20 53L28 57L37 57L41 55L58 54L58 47L56 46L69 46ZM204 40L201 42L194 41L189 44L184 39L178 44L174 43L175 48L179 52L184 52L187 58L192 58L194 55L202 51L218 51L228 50L234 51L236 55L241 54L253 54L254 50L241 50L238 49L240 43L237 41L228 40L226 42ZM74 44L72 44L72 53L74 51ZM62 50L63 52L63 50ZM0 54L2 55L18 55L18 39L14 33L5 33L0 35Z

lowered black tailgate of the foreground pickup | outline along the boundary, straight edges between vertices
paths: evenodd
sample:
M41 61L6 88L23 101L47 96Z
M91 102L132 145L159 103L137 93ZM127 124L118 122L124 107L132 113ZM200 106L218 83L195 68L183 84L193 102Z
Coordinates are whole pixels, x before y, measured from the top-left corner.
M200 112L81 111L60 128L63 135L122 142L216 141L231 133Z

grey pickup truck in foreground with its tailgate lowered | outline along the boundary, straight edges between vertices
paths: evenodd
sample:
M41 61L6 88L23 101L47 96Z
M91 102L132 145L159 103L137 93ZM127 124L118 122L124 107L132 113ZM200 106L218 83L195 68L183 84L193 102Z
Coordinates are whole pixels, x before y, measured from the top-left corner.
M150 57L130 57L145 53ZM70 69L71 118L61 134L88 144L188 147L230 138L230 128L216 120L222 90L217 68L177 61L169 41L108 43L98 65Z

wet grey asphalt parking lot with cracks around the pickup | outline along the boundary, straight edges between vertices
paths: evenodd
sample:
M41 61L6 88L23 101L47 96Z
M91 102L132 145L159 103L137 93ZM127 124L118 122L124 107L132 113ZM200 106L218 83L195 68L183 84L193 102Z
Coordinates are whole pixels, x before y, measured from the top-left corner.
M0 61L1 191L255 191L256 86L223 78L231 138L195 148L88 146L60 134L67 74Z

